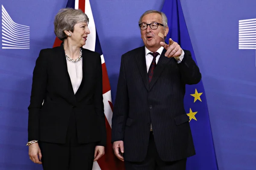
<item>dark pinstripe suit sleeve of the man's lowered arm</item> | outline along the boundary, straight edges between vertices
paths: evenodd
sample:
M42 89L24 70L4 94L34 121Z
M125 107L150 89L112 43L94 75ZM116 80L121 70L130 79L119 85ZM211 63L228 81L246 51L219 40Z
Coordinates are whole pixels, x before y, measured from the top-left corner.
M125 123L128 116L129 98L125 77L124 56L121 59L119 78L116 91L116 99L112 116L112 139L111 142L123 141Z

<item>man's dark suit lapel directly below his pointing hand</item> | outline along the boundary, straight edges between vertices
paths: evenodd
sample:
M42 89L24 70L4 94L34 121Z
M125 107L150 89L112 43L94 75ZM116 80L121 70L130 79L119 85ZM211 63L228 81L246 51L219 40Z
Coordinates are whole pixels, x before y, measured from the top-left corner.
M167 63L172 60L172 58L165 57L164 54L166 53L166 49L163 49L163 52L157 62L157 67L154 69L154 75L152 77L152 80L149 84L149 90L153 87L155 82L157 82L157 79L160 77L162 71L166 67Z

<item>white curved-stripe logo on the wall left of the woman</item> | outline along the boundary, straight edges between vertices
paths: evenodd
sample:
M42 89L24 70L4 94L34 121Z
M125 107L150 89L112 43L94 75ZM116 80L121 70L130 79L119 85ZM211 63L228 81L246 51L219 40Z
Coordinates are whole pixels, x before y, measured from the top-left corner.
M15 23L2 5L2 48L29 49L29 26Z

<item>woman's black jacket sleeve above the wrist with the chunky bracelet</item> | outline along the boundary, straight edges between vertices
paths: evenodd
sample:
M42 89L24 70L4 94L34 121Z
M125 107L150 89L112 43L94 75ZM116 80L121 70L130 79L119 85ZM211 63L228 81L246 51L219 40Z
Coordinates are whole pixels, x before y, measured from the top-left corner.
M41 50L35 62L30 96L28 141L39 140L39 113L47 88L47 57Z

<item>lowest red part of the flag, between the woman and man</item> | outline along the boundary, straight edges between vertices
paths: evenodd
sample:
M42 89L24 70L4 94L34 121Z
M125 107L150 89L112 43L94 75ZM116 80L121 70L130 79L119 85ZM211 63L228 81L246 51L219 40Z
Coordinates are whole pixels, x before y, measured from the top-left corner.
M125 170L125 164L116 158L111 143L111 127L105 117L107 129L107 145L105 147L105 155L103 155L97 162L101 170Z

